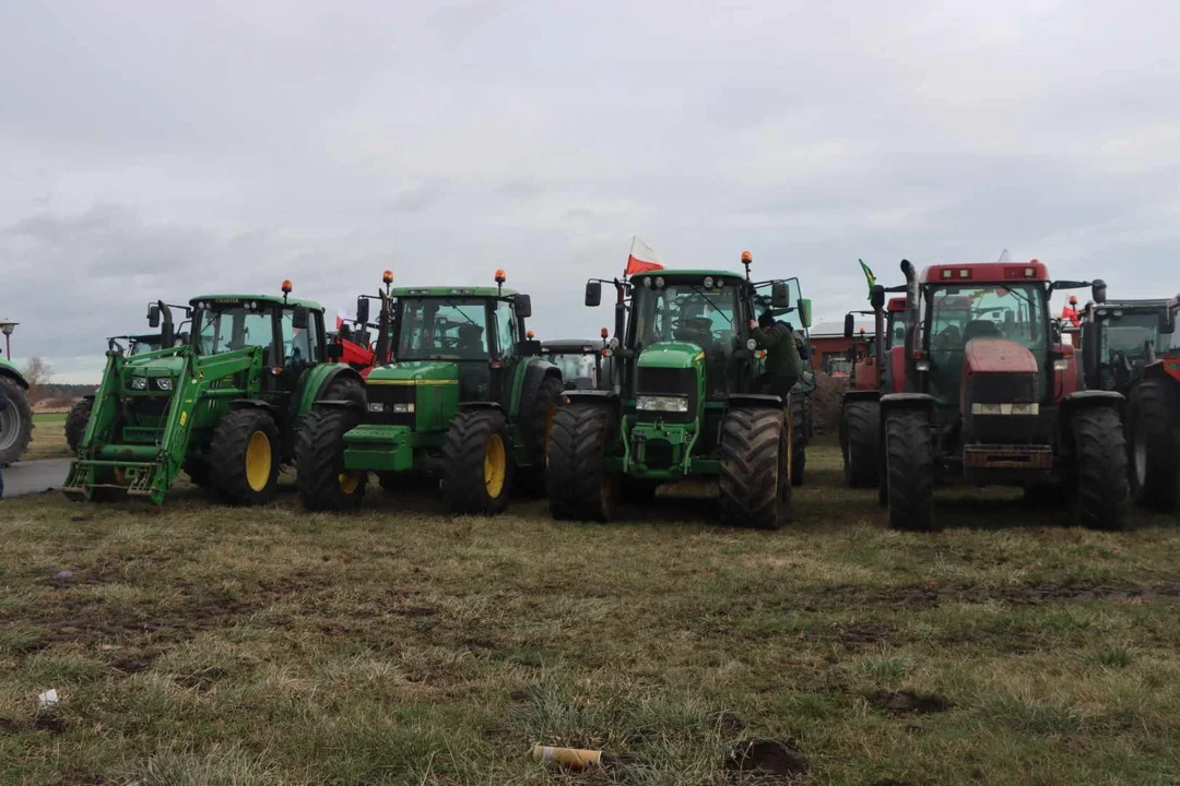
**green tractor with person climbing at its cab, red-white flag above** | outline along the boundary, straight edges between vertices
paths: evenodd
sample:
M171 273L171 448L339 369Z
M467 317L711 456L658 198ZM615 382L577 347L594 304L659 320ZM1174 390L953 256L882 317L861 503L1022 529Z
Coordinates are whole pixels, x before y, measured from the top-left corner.
M763 352L749 322L766 309L811 303L798 279L752 282L723 270L657 270L630 280L590 280L597 306L614 284L614 385L569 390L549 448L549 503L558 520L610 521L622 496L650 496L661 483L716 478L726 524L778 528L789 519L792 401L762 392ZM793 391L788 399L794 399ZM800 411L801 415L801 411Z

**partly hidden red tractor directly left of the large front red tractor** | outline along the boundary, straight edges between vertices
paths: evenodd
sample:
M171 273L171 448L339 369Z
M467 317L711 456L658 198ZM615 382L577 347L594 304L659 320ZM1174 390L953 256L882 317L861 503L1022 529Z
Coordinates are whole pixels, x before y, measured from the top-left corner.
M880 475L880 398L886 392L900 391L903 382L905 343L905 298L890 298L885 293L904 290L872 289L871 313L876 322L872 350L857 362L848 390L840 394L840 453L844 455L844 478L851 488L871 488ZM853 339L856 317L844 318L844 337ZM856 344L853 344L853 350ZM896 369L896 371L894 371Z

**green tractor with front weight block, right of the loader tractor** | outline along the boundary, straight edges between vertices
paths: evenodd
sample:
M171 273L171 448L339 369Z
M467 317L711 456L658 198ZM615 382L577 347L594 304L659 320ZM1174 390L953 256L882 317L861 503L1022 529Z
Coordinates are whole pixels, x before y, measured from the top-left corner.
M527 337L527 295L496 286L391 289L362 297L358 321L379 302L367 407L317 402L300 437L297 483L313 510L355 509L369 473L381 488L441 478L453 514L507 508L513 476L544 486L545 444L562 401L562 375Z

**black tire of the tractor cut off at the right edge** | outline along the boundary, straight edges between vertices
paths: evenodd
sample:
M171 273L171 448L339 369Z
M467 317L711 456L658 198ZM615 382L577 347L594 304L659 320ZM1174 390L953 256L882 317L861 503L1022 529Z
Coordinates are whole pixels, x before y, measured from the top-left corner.
M1171 511L1176 504L1176 456L1173 430L1180 402L1167 384L1148 379L1130 391L1127 455L1130 494L1138 504Z

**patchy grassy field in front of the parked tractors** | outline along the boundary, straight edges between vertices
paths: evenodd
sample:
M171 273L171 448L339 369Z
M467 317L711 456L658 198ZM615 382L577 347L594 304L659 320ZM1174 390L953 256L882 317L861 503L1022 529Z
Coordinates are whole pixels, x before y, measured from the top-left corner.
M812 449L778 533L707 493L611 526L372 489L353 516L6 501L0 782L732 784L753 737L806 759L791 782L1180 782L1167 519L956 493L900 534L838 462Z

